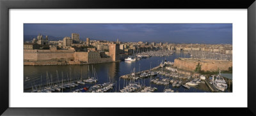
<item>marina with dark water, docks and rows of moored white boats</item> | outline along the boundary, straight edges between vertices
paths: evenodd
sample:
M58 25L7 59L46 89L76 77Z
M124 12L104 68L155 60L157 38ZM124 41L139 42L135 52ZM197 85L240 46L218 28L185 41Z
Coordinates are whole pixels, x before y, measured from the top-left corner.
M166 69L178 57L190 55L173 52L139 61L24 66L24 92L216 92L207 79Z

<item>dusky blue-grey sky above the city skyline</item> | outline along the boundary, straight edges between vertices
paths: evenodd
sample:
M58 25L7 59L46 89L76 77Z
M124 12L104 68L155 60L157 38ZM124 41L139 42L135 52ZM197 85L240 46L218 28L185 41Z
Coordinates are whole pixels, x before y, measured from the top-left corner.
M80 40L232 44L232 24L24 24L24 35L38 33L55 37L78 33Z

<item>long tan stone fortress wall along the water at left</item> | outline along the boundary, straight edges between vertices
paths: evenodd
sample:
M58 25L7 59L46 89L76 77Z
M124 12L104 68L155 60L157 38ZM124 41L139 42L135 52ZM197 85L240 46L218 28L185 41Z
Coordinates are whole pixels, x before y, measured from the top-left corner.
M113 61L111 57L101 58L99 52L24 50L24 65L94 64L102 62Z

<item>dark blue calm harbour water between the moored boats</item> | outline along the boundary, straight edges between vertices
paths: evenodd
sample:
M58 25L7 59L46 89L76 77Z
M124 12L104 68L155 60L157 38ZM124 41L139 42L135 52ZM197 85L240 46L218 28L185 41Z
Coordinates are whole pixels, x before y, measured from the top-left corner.
M135 62L109 62L103 64L90 64L90 74L88 74L88 65L62 65L62 66L24 66L24 92L31 92L31 85L46 85L46 76L48 73L50 82L59 82L61 83L61 78L63 81L71 78L76 81L79 78L86 79L88 75L92 76L92 66L95 68L97 72L97 76L99 81L97 83L86 83L85 85L79 85L72 89L65 90L63 92L70 92L75 89L80 89L83 87L90 87L95 84L104 83L104 82L113 82L116 83L115 87L111 89L109 92L118 92L120 89L123 89L126 84L128 84L127 80L120 78L122 75L126 75L132 72L132 69L135 67L136 72L143 71L146 69L150 69L159 66L161 61L171 61L173 62L177 57L189 57L187 52L175 52L173 55L168 57L149 57L147 59L141 59L140 61ZM58 71L58 73L57 73ZM62 76L63 75L63 76ZM42 76L42 80L41 80ZM52 76L52 78L51 78ZM159 75L160 76L160 75ZM28 78L27 78L28 77ZM42 81L42 82L41 82ZM145 85L152 87L157 87L156 92L163 92L164 88L172 88L175 92L209 92L207 85L204 83L200 83L198 87L191 87L191 89L184 89L184 87L172 87L170 85L156 85L154 83L150 84L150 78L136 80L136 82L144 83ZM34 87L35 89L35 87ZM38 88L37 88L38 89Z

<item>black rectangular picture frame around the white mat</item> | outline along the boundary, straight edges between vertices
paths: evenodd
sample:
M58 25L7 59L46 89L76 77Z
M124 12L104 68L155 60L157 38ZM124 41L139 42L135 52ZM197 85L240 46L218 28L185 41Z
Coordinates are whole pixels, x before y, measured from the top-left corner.
M16 8L243 8L248 10L247 108L10 108L9 10ZM0 114L2 115L256 115L256 2L255 0L1 0L0 1ZM22 99L20 99L22 100ZM237 99L239 100L239 99ZM204 102L204 101L202 101ZM205 101L209 102L209 101ZM235 101L234 101L235 102Z

